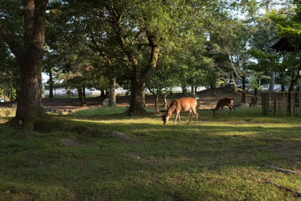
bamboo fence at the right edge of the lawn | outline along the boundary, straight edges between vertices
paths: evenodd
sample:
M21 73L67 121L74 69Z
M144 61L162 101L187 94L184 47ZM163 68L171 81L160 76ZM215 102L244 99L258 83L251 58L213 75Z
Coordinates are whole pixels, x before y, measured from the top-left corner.
M274 116L283 114L283 116L301 117L301 94L293 91L265 91L261 93L262 115Z

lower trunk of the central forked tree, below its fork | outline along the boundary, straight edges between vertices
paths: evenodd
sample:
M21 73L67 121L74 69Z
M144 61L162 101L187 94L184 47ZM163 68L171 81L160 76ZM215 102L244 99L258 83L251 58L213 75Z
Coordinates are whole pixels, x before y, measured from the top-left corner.
M142 92L144 90L143 85L140 81L136 80L135 78L132 79L132 87L131 87L131 103L128 109L129 114L135 113L144 113L146 112L143 106L143 98Z

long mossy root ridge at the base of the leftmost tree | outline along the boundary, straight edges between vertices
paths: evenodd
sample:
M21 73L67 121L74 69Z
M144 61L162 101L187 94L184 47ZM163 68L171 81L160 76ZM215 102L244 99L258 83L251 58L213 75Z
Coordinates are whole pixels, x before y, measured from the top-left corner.
M18 125L19 121L20 120L18 118L14 117L10 121L8 121L7 124L15 126ZM22 123L22 132L25 134L30 134L31 132L33 132L33 130L42 133L55 131L73 132L97 137L114 137L123 139L126 142L133 142L133 138L124 133L119 133L117 131L103 131L94 127L70 124L68 122L54 118L46 113L44 113L42 117L39 117L34 113L29 114L26 117L26 120Z

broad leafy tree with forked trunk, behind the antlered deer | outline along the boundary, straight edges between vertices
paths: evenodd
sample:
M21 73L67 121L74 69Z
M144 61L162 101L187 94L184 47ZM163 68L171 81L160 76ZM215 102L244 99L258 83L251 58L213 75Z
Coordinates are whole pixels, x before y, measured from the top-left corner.
M76 26L80 27L79 34L84 38L80 42L97 50L104 60L110 59L112 63L115 59L123 63L114 66L118 68L119 75L131 81L128 113L145 112L142 98L144 83L156 69L160 53L166 47L181 48L180 44L186 39L205 41L205 31L200 30L212 29L211 19L217 22L224 16L223 6L227 5L220 1L186 0L56 2L65 2L57 4L57 8L65 6L74 11L73 17L67 20L67 26L71 27L71 31ZM80 13L74 9L79 5Z

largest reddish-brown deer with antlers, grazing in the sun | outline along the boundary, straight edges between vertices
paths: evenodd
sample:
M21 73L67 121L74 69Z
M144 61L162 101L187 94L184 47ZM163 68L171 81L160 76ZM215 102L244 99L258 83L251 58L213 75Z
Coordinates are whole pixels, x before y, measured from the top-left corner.
M197 111L195 108L197 107L197 99L199 98L191 98L191 97L186 97L186 98L181 98L181 99L176 99L172 101L167 107L167 111L165 115L163 115L159 109L156 106L156 111L160 114L158 115L159 117L162 117L163 119L163 124L166 124L169 118L171 117L172 113L175 113L175 122L177 121L177 118L179 117L179 124L181 124L181 119L180 119L180 111L189 111L190 113L190 119L188 124L190 124L190 121L192 119L193 113L196 115L195 118L195 124L197 124ZM174 123L175 124L175 123Z

